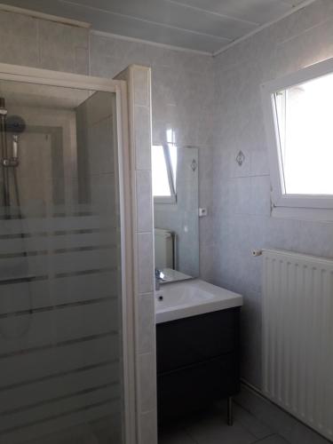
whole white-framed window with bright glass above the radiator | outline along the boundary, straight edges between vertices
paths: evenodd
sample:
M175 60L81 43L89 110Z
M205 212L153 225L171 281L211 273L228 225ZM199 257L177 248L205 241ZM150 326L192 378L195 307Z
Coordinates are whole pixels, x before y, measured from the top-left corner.
M313 218L316 209L314 218L333 219L333 59L265 83L262 93L273 214L301 209Z

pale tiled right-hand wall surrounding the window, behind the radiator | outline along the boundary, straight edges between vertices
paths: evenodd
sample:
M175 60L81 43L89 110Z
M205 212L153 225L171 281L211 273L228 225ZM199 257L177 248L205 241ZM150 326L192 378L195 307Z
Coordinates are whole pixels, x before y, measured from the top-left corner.
M270 179L259 85L333 56L333 2L317 0L214 61L213 281L245 297L242 376L261 384L261 259L251 249L333 256L333 225L270 218ZM242 150L245 162L235 159ZM302 162L302 159L299 160Z

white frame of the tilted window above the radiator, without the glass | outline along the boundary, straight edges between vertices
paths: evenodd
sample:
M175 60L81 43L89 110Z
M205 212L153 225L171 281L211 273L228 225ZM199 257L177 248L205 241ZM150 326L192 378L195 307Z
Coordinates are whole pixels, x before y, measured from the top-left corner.
M329 74L333 74L333 59L321 61L261 85L271 176L272 215L278 217L298 215L304 216L304 218L333 220L333 194L285 193L279 126L274 99L274 94L278 91L286 90L300 83ZM317 214L314 214L314 212Z

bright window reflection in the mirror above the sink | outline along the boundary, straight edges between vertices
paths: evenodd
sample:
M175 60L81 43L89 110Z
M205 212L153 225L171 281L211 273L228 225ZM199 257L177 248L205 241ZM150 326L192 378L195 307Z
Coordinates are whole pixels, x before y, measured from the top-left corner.
M176 202L177 147L173 144L152 147L153 195L157 203Z

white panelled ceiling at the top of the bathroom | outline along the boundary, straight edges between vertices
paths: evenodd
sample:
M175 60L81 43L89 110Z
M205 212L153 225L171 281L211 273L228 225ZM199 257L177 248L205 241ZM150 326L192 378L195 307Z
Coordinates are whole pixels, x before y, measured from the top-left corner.
M215 53L309 0L2 0L119 36Z

